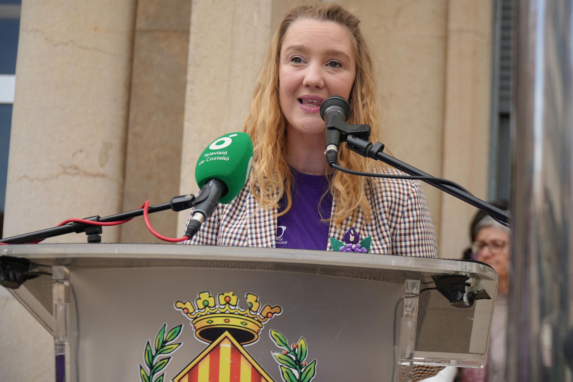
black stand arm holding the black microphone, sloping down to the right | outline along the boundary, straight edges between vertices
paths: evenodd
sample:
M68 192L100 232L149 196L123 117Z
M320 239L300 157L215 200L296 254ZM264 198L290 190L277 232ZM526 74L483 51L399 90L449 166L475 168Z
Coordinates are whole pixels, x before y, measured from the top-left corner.
M424 171L418 170L417 168L410 166L407 163L404 163L402 161L399 161L398 159L391 157L388 154L383 153L382 151L384 150L384 145L380 142L376 142L374 143L374 145L370 142L368 142L366 139L362 139L359 137L356 137L354 135L347 135L346 137L346 147L348 147L348 149L354 151L355 153L358 153L360 155L362 155L363 157L368 157L368 158L372 158L372 159L376 159L377 161L382 161L384 163L387 163L390 166L393 166L395 168L397 168L398 170L401 170L403 172L405 172L406 174L410 174L411 176L416 176L416 177L431 177L430 174L425 173ZM484 211L486 213L488 213L489 216L492 216L494 219L497 220L501 220L500 223L505 223L505 225L509 224L509 218L510 215L509 213L503 211L502 209L499 209L483 200L481 200L480 198L477 198L475 196L473 196L472 194L466 193L458 188L455 188L453 186L450 185L446 185L446 184L440 184L437 182L432 182L432 181L426 181L423 180L424 182L426 182L427 184L434 186L435 188L442 190L454 197L457 197L458 199L465 201L466 203L473 205L476 208L481 209L481 211Z

